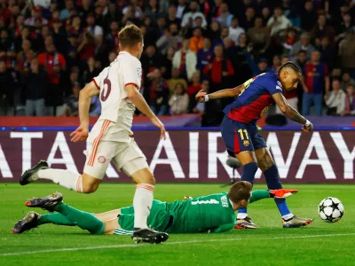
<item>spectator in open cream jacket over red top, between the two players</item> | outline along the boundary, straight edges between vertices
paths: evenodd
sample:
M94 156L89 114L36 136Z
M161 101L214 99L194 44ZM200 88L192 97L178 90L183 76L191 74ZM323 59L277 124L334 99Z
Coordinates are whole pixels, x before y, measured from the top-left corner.
M196 54L189 50L189 46L190 40L185 39L183 47L175 53L172 59L172 66L178 68L181 76L190 81L196 71L197 58Z

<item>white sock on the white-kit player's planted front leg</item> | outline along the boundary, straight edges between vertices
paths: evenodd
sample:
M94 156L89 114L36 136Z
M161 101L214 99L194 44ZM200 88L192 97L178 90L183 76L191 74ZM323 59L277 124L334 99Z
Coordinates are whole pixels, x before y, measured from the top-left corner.
M146 220L153 203L153 184L138 184L133 198L134 228L148 228Z

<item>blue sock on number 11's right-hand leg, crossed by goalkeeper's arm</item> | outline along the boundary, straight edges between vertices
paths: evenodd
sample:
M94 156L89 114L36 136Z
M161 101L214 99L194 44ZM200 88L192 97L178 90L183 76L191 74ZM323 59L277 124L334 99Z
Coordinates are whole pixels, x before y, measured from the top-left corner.
M276 165L272 165L271 168L267 168L264 171L264 176L269 190L279 190L282 188L282 184L280 182L279 170L276 167ZM293 216L291 211L288 209L288 204L286 203L286 199L275 199L275 203L279 208L282 218L284 218L284 216L286 217L290 215L291 217Z

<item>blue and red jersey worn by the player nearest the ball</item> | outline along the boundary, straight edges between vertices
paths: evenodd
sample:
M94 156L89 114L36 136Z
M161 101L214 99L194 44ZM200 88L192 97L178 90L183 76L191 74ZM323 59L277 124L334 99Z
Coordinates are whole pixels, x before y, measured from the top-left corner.
M279 75L263 73L244 82L245 89L223 111L230 119L244 123L256 122L274 101L272 94L282 93Z

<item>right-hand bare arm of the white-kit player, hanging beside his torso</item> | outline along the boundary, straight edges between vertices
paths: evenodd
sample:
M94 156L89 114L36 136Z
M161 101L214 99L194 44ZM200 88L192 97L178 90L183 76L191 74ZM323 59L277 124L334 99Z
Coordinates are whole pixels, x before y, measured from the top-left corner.
M137 109L144 113L150 120L153 122L154 126L158 129L161 129L161 138L165 139L165 127L162 121L153 113L148 104L146 103L146 99L139 93L136 86L134 84L126 85L127 97L131 100L131 102L137 107Z

